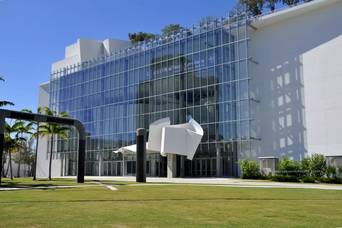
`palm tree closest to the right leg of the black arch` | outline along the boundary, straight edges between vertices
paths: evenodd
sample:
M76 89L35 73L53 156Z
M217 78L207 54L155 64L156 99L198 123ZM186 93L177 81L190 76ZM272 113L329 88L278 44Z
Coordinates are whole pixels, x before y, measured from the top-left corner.
M49 116L57 116L57 117L64 117L64 118L70 118L67 112L61 112L58 115L57 112L51 111L48 107L43 107L43 110L45 112L45 115ZM45 124L39 126L39 129L42 131L42 138L47 136L50 137L50 163L49 163L49 177L48 180L51 180L51 163L52 163L52 153L53 153L53 140L55 135L61 136L63 139L66 139L69 141L69 138L64 133L65 131L73 131L69 127L61 127L58 124Z

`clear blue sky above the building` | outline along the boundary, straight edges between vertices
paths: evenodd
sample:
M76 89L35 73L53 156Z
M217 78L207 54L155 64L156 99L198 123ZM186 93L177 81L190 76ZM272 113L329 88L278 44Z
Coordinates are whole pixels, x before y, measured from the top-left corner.
M0 100L13 110L36 110L38 85L51 63L78 38L127 40L128 33L160 33L166 24L191 26L206 15L227 15L237 0L0 0Z

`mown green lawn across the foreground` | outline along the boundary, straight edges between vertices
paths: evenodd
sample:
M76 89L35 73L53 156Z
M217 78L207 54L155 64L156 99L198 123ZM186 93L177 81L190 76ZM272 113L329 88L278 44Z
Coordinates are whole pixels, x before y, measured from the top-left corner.
M0 191L0 227L342 227L342 190L102 183L119 185L118 190ZM36 185L77 184L1 182L1 188Z

